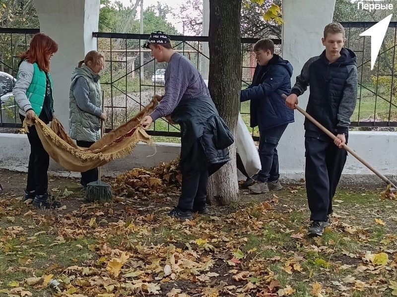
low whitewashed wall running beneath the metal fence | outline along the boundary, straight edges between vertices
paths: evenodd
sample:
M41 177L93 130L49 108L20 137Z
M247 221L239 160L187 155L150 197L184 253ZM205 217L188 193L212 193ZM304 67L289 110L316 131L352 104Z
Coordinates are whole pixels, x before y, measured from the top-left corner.
M394 157L397 133L351 132L349 137L351 148L380 172L397 181L397 159ZM178 157L181 148L179 144L156 143L156 150L154 156L147 157L154 154L154 148L146 144L139 144L130 156L106 164L103 168L103 175L115 176L133 168L149 168L157 166L160 162L169 162ZM289 154L292 152L293 149L291 148ZM30 146L26 135L0 133L0 169L27 172L29 153ZM297 169L294 175L288 173L289 165L285 163L285 157L285 154L281 156L281 178L284 180L299 180L299 178L302 178L303 168ZM78 173L66 172L52 160L49 170L59 175L79 176ZM342 180L347 183L362 182L382 185L381 179L351 156L347 158Z

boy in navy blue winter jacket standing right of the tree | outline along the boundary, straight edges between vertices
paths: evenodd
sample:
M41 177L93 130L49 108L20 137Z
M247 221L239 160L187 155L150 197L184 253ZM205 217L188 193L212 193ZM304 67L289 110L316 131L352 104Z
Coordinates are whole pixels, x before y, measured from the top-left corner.
M258 60L252 84L241 91L241 102L251 100L251 127L259 127L259 156L262 169L248 178L243 187L255 194L282 188L278 178L277 145L287 125L294 121L294 113L285 106L282 94L291 91L292 65L274 54L274 43L261 39L254 51Z

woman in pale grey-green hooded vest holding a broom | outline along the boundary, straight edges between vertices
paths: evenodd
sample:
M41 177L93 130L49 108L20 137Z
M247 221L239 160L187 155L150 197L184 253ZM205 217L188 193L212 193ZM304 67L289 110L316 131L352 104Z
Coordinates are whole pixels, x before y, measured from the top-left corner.
M104 59L97 51L88 52L71 74L69 91L69 135L80 147L90 147L101 137L101 119L106 120L102 107L99 72ZM81 173L80 183L86 187L98 180L98 169Z

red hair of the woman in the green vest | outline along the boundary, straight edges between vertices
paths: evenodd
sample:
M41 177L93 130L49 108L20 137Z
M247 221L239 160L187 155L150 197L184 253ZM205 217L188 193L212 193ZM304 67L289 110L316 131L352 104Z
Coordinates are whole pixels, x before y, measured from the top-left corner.
M43 33L37 33L30 42L29 50L19 55L29 63L36 62L40 70L50 71L50 56L58 51L58 44Z

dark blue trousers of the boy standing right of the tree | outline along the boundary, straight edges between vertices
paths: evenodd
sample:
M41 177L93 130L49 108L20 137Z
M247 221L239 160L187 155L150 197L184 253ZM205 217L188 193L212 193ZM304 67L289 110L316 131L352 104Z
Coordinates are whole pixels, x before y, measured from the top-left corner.
M280 177L278 172L277 145L288 124L270 129L260 130L259 157L262 169L258 173L259 182L276 181Z

